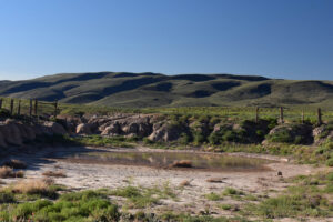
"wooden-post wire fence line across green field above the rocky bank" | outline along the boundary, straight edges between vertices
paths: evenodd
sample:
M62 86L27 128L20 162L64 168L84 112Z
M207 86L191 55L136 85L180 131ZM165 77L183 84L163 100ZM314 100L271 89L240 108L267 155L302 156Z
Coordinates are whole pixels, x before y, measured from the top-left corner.
M77 111L92 112L93 114L100 113L119 113L119 112L130 112L130 113L164 113L164 114L192 114L192 115L218 115L221 118L228 118L233 120L254 120L273 118L278 119L280 123L285 121L297 121L304 123L305 121L311 121L312 123L322 124L323 121L332 121L333 112L325 111L324 114L321 108L307 108L302 109L291 109L291 108L261 108L261 107L246 107L246 108L231 108L231 107L212 107L212 108L155 108L155 109L114 109L114 108L98 108L91 105L69 105L61 104L58 101L44 102L39 100L21 100L12 98L0 98L0 109L7 109L14 115L26 115L30 118L39 117L51 117L57 115L60 111L69 107L74 108Z

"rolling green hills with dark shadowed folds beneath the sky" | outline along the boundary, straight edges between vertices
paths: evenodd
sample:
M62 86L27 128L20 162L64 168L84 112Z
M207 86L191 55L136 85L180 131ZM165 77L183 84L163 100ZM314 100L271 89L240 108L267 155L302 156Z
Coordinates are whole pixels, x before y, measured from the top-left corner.
M0 95L110 107L333 105L333 81L233 74L97 72L0 81Z

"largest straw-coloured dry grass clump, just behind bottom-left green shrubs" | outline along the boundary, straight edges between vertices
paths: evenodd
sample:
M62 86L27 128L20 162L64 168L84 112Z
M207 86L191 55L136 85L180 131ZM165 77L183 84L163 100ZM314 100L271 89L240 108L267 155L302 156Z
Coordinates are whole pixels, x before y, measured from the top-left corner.
M36 194L48 192L49 184L44 180L23 180L16 183L12 191L16 193Z

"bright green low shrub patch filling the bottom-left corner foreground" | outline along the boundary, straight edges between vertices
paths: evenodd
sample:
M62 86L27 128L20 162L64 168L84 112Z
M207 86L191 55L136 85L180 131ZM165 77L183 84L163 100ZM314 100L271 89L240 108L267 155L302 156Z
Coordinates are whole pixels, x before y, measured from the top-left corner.
M14 221L118 221L118 206L100 192L83 191L63 194L58 201L38 200L0 211L0 218Z

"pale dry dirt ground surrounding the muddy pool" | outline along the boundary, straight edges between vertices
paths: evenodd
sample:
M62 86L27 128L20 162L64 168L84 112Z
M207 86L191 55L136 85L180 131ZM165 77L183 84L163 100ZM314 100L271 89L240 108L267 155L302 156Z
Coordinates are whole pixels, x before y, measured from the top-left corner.
M218 204L241 204L240 201L224 198L223 200L209 201L204 195L211 192L221 193L225 188L234 188L242 190L245 193L253 195L274 195L276 191L285 189L289 184L284 182L285 179L300 175L311 174L320 171L319 168L310 165L299 165L281 160L279 162L270 163L266 167L268 171L261 172L204 172L196 170L170 170L157 169L138 165L113 165L113 164L89 164L89 163L73 163L65 159L67 154L97 151L95 148L47 148L33 152L21 152L19 155L12 157L14 159L23 160L29 168L26 171L26 178L39 179L46 171L62 171L65 178L58 178L56 182L63 184L72 190L122 188L131 182L133 185L141 185L151 188L154 185L169 184L176 193L176 200L161 200L161 204L149 209L151 212L174 211L186 213L200 213L209 209L215 215L236 215L235 212L222 210ZM102 149L105 151L105 149ZM110 150L112 152L117 150ZM123 151L123 150L119 150ZM150 150L147 148L138 148L137 151L152 151L152 152L173 152L164 150ZM193 152L193 151L181 151ZM57 153L57 159L54 159ZM62 154L61 154L62 153ZM242 154L241 155L245 155ZM251 155L251 154L246 154ZM255 154L254 157L260 157ZM276 157L262 155L265 159L279 160ZM282 176L278 172L282 172ZM220 182L208 182L209 179L219 179ZM20 179L4 179L2 182L11 183ZM181 186L184 181L189 185ZM112 198L119 204L123 200ZM297 220L281 220L283 222ZM319 221L319 220L315 220ZM327 220L323 220L327 221Z

